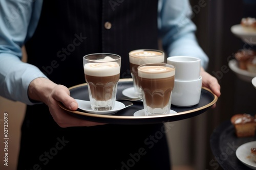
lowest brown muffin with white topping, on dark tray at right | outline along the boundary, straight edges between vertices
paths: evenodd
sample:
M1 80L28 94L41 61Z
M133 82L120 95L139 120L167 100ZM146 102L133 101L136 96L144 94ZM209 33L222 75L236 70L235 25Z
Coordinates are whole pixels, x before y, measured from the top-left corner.
M255 135L256 119L250 114L241 113L231 117L231 123L236 130L237 137L250 137Z

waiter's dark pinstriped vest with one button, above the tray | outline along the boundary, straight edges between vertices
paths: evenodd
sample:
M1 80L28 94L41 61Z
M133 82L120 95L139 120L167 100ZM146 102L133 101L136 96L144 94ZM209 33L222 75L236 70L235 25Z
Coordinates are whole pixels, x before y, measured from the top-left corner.
M85 82L84 55L114 53L122 57L120 78L131 78L129 52L158 48L157 7L155 0L44 1L38 27L26 44L28 62L70 87ZM69 73L76 76L66 82Z

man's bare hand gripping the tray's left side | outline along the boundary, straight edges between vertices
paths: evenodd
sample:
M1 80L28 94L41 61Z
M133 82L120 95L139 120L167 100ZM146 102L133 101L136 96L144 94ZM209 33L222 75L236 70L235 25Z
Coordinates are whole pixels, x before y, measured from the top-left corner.
M70 110L78 108L77 102L70 96L70 91L63 85L57 85L46 78L37 78L33 80L28 89L28 95L31 100L45 103L55 122L62 128L75 126L96 126L104 125L102 123L90 122L73 117L59 107L61 102Z

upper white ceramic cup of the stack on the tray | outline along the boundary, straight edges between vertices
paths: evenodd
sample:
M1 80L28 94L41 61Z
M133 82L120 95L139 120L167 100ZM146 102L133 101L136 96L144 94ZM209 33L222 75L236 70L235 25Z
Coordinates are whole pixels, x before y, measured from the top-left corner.
M200 76L201 59L189 56L173 56L167 63L174 65L175 80L197 80Z

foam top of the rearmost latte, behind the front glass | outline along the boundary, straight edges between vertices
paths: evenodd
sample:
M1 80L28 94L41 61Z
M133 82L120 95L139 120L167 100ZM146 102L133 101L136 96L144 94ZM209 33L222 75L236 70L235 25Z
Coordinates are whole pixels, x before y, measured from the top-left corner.
M164 62L163 54L155 51L134 51L130 53L130 63L161 63ZM141 62L143 60L143 63Z

